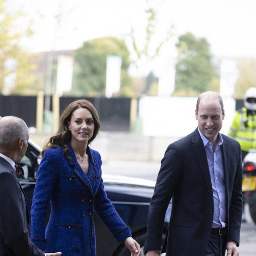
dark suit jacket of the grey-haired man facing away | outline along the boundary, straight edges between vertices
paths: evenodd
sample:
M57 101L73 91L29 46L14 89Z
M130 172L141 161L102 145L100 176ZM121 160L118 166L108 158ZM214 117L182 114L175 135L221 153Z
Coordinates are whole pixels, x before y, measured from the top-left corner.
M44 256L30 240L23 189L11 165L0 157L0 256Z

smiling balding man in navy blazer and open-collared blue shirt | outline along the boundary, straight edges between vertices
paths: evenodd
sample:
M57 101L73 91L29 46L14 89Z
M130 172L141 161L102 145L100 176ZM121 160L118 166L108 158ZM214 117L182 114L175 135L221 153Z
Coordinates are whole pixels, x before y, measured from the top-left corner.
M226 250L227 256L239 255L241 147L219 133L224 117L219 94L200 94L198 128L168 146L150 204L146 256L159 255L171 198L166 256L224 256Z

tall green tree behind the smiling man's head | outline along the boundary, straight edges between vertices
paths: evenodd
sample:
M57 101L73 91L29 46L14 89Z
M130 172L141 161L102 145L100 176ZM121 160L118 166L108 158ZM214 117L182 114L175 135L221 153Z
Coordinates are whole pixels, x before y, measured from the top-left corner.
M217 72L207 40L186 33L178 38L176 47L178 58L173 95L195 96L210 90L213 84L216 88L213 81Z

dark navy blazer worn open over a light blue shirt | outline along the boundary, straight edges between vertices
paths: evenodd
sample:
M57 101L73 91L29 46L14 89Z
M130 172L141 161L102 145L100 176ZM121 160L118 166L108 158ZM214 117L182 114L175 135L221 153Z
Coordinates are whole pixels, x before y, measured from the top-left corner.
M241 148L222 135L226 187L227 241L239 244L242 215ZM151 200L145 250L161 248L166 207L173 200L166 240L167 256L203 256L211 235L213 192L207 157L198 129L166 150Z

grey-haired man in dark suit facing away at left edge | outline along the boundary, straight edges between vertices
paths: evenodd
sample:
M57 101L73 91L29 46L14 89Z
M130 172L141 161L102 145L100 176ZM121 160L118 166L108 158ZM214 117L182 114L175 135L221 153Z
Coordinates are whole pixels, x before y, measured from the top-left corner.
M18 117L0 118L0 256L60 256L43 253L30 240L29 215L15 163L23 158L29 139Z

